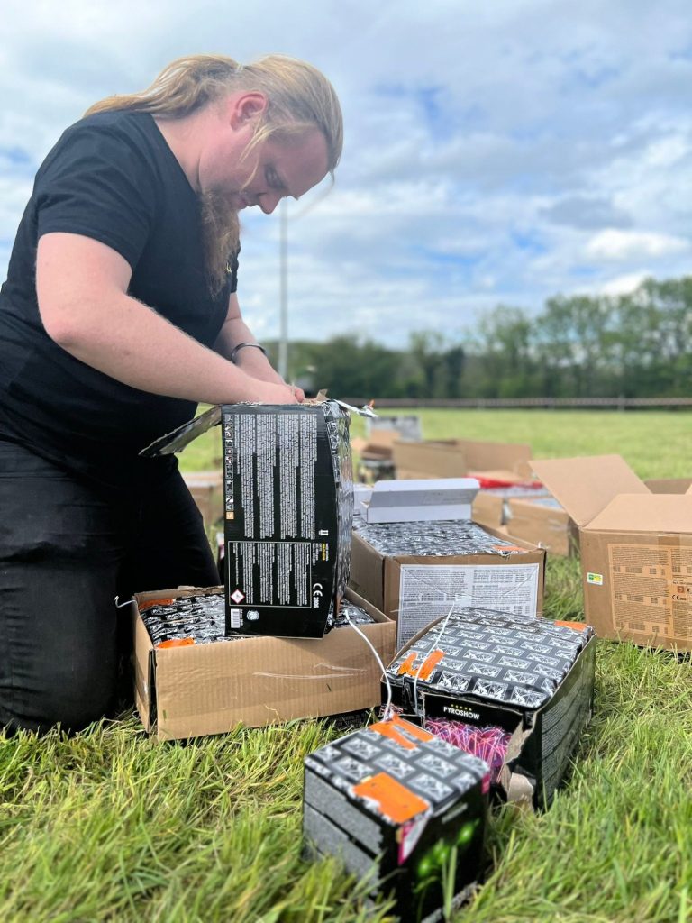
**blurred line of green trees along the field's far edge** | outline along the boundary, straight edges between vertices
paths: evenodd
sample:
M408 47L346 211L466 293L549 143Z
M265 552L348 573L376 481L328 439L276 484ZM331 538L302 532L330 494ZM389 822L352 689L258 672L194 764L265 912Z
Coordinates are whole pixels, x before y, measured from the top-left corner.
M538 313L499 305L454 342L435 330L400 350L351 334L292 342L290 377L343 397L687 397L691 345L686 276L557 295Z

